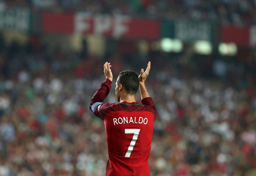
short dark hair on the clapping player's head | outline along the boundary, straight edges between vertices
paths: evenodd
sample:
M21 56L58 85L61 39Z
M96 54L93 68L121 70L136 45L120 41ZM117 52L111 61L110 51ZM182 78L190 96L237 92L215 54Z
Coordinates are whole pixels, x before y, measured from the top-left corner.
M119 78L119 79L118 79ZM122 84L128 94L136 94L139 89L139 77L131 70L124 70L119 73L117 84Z

